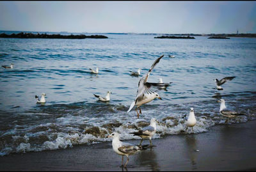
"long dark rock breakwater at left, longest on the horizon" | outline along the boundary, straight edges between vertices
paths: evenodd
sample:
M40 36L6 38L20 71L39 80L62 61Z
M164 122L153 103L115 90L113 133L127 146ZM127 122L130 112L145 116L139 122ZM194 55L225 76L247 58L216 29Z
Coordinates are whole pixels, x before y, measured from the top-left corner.
M58 38L58 39L84 39L84 38L97 38L97 39L102 39L102 38L108 38L107 36L104 35L60 35L60 34L55 34L55 35L47 35L46 33L44 34L33 34L33 33L13 33L12 35L6 35L5 33L0 34L0 38Z

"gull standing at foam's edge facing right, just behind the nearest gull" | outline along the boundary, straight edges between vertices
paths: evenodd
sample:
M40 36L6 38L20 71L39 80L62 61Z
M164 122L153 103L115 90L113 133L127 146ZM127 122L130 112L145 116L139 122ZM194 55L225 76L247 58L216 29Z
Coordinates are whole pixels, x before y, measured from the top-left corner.
M152 146L151 139L154 134L156 134L156 123L159 123L159 121L157 121L156 118L152 118L150 120L150 125L148 125L147 127L143 127L141 130L138 130L138 132L130 132L130 134L141 137L140 145L143 139L149 139L150 146Z

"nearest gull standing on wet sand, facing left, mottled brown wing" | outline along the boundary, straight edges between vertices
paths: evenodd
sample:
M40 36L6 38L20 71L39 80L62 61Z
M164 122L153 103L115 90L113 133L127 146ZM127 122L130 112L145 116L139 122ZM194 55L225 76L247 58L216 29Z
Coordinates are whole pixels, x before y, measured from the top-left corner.
M145 146L136 146L136 145L132 145L131 143L125 143L120 141L120 136L117 132L113 132L112 134L107 136L112 137L112 147L115 153L117 153L118 155L122 155L122 167L124 166L124 168L126 168L126 165L129 161L129 155L133 155L136 152L139 152L140 150L143 150L143 148ZM127 157L127 160L125 162L125 165L123 164L124 162L124 155Z

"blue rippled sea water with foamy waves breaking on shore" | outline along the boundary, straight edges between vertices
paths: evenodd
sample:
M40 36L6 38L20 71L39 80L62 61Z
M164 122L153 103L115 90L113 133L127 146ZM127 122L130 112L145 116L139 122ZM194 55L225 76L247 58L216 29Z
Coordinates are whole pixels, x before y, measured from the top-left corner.
M70 148L111 141L113 131L121 139L140 139L134 132L159 120L153 138L167 134L200 134L214 125L232 125L256 119L256 38L195 40L156 39L154 35L104 34L108 39L20 39L0 38L0 155ZM148 82L172 82L159 91L163 100L135 107L138 81L152 70ZM174 55L175 58L169 58ZM99 74L89 68L99 67ZM141 68L133 77L129 71ZM236 76L216 90L214 79ZM93 94L105 97L100 102ZM45 104L35 95L46 94ZM226 118L226 106L246 114ZM182 115L194 108L197 123L185 132Z

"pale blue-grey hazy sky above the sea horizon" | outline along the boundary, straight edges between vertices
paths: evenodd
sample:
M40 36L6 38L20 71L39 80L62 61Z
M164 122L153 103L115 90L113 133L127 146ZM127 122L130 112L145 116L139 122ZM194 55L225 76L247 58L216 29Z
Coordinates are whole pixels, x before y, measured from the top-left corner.
M256 1L0 1L0 30L256 33Z

